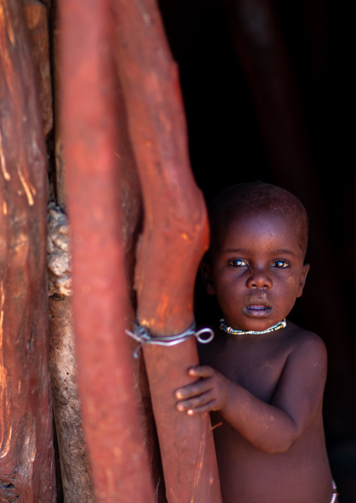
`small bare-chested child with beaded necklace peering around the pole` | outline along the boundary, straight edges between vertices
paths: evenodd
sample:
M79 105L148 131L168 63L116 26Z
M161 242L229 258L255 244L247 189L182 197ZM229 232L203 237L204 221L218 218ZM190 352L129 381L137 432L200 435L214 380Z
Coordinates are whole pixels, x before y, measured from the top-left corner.
M177 409L212 411L224 503L334 503L322 425L327 354L285 317L300 297L308 217L301 202L261 182L220 193L202 271L224 319L201 346L196 383Z

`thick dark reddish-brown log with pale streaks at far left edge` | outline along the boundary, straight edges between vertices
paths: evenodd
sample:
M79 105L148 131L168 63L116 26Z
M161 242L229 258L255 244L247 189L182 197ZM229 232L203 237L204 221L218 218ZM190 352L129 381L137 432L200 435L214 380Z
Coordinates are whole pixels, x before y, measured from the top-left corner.
M0 501L55 503L46 152L22 9L0 0Z

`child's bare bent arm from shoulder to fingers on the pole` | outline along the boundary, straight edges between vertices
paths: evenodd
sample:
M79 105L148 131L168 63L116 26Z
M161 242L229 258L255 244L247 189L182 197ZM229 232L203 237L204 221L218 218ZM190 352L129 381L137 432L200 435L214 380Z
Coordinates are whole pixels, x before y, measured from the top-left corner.
M308 334L289 354L271 404L211 367L191 368L189 373L203 379L177 390L179 411L219 411L256 448L282 453L301 436L321 404L327 353L322 340Z

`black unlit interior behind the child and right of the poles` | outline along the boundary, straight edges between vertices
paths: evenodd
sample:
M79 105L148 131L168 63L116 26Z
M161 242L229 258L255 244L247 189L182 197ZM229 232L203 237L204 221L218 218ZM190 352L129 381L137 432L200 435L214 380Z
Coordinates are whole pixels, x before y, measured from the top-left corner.
M240 48L233 43L234 31L240 28L231 22L231 11L219 0L160 0L159 4L174 60L179 64L191 164L207 201L228 185L261 179L285 186L307 208L311 269L306 291L291 318L317 332L327 344L327 448L341 492L340 503L355 503L356 232L351 141L355 79L351 13L345 4L323 0L235 0L237 9L242 4L252 5L252 18L258 18L261 9L273 13L280 30L279 43L286 49L289 78L295 85L294 106L285 113L292 122L295 111L299 114L298 138L289 148L282 128L280 145L275 142L271 148L266 131L268 123L274 124L275 105L272 100L271 111L263 99L256 99L260 89L262 95L267 93L266 101L268 78L262 75L257 84L251 83L248 65L239 52L242 46L249 53L249 47L243 40L238 42ZM250 57L259 58L263 67L263 54ZM278 83L282 67L279 60L275 67L267 62L263 71ZM283 92L289 90L281 85L278 93ZM303 153L299 156L298 151ZM278 161L281 156L282 163ZM199 282L197 291L197 317L207 313L218 317Z

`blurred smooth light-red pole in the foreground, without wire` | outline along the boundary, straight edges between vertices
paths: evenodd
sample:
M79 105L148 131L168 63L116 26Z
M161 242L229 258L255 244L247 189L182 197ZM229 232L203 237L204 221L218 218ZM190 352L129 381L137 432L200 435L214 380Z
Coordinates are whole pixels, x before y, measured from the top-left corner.
M61 0L59 7L74 330L95 495L98 502L149 503L153 485L125 334L128 294L109 4Z

